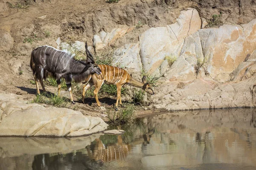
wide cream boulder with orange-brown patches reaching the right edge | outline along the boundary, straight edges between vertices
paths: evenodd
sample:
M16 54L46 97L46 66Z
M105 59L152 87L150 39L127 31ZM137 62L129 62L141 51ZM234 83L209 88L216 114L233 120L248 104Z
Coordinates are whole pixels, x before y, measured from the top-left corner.
M241 26L201 29L186 38L180 57L164 76L191 80L195 77L187 75L203 72L226 82L229 74L255 49L256 19Z

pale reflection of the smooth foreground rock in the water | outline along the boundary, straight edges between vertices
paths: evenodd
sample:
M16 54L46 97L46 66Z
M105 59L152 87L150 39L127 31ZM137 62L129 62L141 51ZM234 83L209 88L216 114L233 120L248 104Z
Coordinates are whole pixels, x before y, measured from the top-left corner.
M24 156L24 154L70 153L73 150L84 149L101 135L99 133L73 138L1 137L0 152L5 153L5 156L8 157Z

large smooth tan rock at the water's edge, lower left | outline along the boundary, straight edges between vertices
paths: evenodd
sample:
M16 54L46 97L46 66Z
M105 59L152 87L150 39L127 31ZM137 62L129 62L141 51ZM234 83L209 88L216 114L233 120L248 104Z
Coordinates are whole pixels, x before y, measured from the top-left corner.
M87 118L67 108L44 108L6 99L0 100L0 105L1 110L4 108L0 136L84 136L108 127L98 117Z

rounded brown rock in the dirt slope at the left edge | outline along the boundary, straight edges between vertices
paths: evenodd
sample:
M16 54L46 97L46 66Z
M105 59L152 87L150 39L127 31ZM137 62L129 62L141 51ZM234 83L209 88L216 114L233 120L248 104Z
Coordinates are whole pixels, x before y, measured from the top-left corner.
M9 32L0 30L0 50L10 50L13 47L13 38Z

